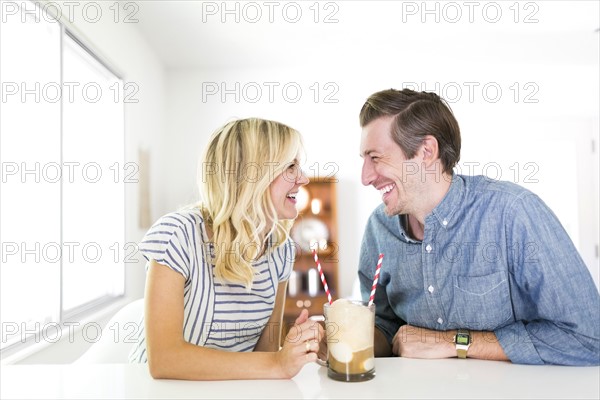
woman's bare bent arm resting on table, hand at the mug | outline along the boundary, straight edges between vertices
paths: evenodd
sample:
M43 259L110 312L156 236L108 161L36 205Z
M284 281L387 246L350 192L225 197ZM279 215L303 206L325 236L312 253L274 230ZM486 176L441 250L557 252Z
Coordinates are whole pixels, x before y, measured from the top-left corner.
M315 361L304 341L314 338L313 321L299 325L301 335L281 351L234 353L208 349L183 338L184 278L150 262L146 280L145 329L148 365L154 378L221 380L291 378Z

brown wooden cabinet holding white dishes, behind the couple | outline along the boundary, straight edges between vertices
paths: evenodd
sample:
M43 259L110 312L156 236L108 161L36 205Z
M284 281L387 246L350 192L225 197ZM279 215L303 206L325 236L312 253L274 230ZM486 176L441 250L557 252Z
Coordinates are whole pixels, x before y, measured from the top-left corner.
M310 315L322 315L323 304L327 302L311 246L316 245L318 249L317 255L331 297L337 299L339 243L336 182L333 177L313 178L304 186L306 192L298 196L299 214L291 230L296 245L296 259L286 296L286 327L293 325L303 308L308 309Z

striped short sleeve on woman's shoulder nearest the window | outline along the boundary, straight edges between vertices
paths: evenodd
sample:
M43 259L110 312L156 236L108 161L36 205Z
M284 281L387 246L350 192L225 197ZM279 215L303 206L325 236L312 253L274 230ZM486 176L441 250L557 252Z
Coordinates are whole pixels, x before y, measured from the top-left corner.
M148 260L155 260L190 278L190 257L196 246L198 232L192 215L171 213L161 217L146 233L139 249Z

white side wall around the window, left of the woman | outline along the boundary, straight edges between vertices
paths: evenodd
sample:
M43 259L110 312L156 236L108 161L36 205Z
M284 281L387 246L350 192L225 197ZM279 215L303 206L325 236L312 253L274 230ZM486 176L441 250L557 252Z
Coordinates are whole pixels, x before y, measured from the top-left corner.
M71 2L74 4L74 2ZM57 4L62 4L59 2ZM77 3L81 10L83 5ZM117 73L121 74L124 82L130 82L139 91L131 99L137 103L126 104L126 162L138 161L138 149L149 150L151 154L151 206L152 216L156 218L156 209L161 208L160 170L163 162L161 152L163 143L168 140L165 135L165 74L161 61L153 49L135 27L135 24L115 23L114 14L108 7L114 2L96 2L102 5L103 17L97 22L83 18L82 14L73 13L71 21L64 21L79 39L104 59ZM68 16L67 5L61 6L64 16ZM93 15L93 14L90 14ZM132 93L132 92L129 92ZM132 178L136 178L135 176ZM139 226L139 186L135 183L126 184L126 226L125 240L127 243L138 243L147 227ZM126 299L112 307L90 317L87 322L104 326L124 302L143 296L145 271L141 255L134 255L139 262L126 264ZM84 325L83 323L81 325ZM73 338L62 335L62 339L44 347L42 350L24 358L19 363L68 363L79 357L91 342L85 340L81 332L76 332ZM90 337L94 335L90 331ZM42 343L43 344L43 343Z

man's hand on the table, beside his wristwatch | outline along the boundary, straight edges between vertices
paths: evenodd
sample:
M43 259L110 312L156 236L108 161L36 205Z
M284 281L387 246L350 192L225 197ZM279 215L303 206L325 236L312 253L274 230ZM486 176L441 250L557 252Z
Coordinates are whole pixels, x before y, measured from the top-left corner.
M392 352L408 358L456 357L455 333L402 325L392 340Z

